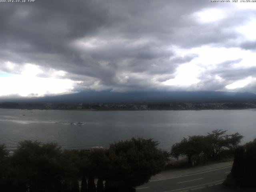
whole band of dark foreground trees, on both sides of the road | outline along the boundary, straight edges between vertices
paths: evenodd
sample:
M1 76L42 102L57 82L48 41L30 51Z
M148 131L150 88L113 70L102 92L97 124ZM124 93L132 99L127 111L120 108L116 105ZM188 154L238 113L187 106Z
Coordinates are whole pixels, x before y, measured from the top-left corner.
M0 145L0 191L132 192L161 172L169 156L186 156L192 166L234 154L230 180L238 186L255 186L256 140L241 147L242 138L239 133L214 130L183 138L170 153L143 138L114 142L107 150L64 150L56 143L26 140L10 154Z

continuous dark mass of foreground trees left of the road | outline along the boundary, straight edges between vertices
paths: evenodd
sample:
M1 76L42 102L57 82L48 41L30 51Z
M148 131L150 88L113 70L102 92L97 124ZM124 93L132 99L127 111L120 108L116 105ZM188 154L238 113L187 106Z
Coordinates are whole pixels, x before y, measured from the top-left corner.
M157 144L132 138L110 144L108 150L63 150L56 143L26 140L12 155L0 145L0 191L135 191L166 164Z

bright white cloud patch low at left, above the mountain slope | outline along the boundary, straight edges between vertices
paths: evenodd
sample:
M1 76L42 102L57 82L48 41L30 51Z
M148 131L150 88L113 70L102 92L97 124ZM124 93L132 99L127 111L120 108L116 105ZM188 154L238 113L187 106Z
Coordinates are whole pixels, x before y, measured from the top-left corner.
M8 65L10 63L7 62ZM15 65L10 65L15 70ZM46 94L62 94L72 92L79 81L70 79L60 79L56 76L65 76L66 72L58 70L50 70L48 77L42 78L38 75L45 72L34 64L25 64L20 74L8 74L8 76L0 76L0 96L8 96L18 94L20 96L44 96ZM51 77L52 76L52 77Z

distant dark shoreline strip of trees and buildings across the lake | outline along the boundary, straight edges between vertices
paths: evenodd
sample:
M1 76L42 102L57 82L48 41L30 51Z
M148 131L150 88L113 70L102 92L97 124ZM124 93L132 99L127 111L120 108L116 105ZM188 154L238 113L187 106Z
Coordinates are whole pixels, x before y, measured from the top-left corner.
M68 104L3 102L0 108L39 110L220 110L256 108L255 103L123 103L123 104Z

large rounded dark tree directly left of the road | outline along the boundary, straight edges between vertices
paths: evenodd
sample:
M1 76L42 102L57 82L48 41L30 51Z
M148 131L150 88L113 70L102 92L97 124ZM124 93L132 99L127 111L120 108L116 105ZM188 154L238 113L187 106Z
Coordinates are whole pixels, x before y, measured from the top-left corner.
M157 145L156 141L143 138L110 144L106 191L108 186L116 188L112 191L124 191L128 187L142 185L162 171L165 157Z

